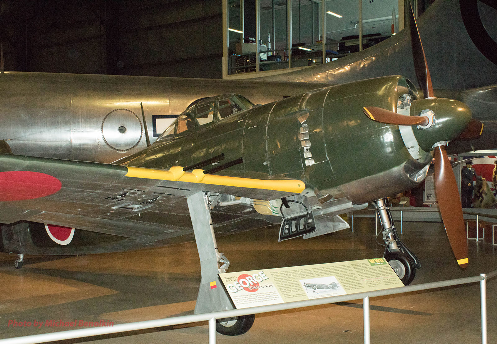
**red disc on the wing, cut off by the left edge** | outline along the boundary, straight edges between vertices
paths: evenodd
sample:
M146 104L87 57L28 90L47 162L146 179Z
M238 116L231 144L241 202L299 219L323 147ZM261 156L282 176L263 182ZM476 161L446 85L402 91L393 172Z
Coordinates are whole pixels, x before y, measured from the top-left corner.
M62 183L54 176L30 171L0 172L0 201L40 198L59 191Z

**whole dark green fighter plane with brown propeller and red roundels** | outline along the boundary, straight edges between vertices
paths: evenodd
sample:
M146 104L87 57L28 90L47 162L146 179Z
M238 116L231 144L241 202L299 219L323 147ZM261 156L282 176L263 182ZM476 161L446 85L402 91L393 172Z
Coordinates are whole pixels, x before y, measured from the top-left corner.
M464 103L433 97L418 44L425 99L401 76L260 106L237 94L202 98L154 144L113 164L18 156L3 142L0 249L17 253L21 267L24 254L103 253L196 240L202 279L195 313L204 313L233 308L216 288L218 273L229 266L216 236L281 223L280 241L317 237L348 228L338 215L373 202L385 258L407 285L420 263L399 239L386 198L418 185L434 152L440 211L464 268L461 202L445 147L457 137L479 135L481 123ZM252 323L253 316L244 316L218 322L217 330L237 335Z

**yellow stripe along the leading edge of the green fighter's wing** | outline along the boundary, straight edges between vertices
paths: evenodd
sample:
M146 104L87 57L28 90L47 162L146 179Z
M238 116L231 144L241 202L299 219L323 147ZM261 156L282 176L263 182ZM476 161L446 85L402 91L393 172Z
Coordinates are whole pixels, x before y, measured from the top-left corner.
M247 187L284 192L301 193L305 189L302 180L265 180L242 177L229 177L226 175L204 174L203 170L184 172L180 166L167 170L147 169L142 167L127 166L127 177L147 178L158 180L184 181L189 183L213 184L224 186Z

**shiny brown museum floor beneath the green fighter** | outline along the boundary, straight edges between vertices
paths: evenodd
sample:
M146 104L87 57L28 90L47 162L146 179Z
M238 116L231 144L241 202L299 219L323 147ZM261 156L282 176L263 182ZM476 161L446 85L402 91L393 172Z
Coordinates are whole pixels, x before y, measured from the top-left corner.
M470 267L455 263L441 223L405 222L404 242L420 258L415 284L497 269L497 247L469 241ZM355 218L355 232L277 243L277 229L218 239L230 271L381 257L374 218ZM108 319L115 324L193 313L200 267L195 243L80 257L0 254L0 338L55 328L7 327L8 320ZM481 343L479 284L371 298L371 343ZM489 343L497 340L497 278L489 280ZM207 343L207 323L57 343ZM257 315L239 337L217 343L363 343L362 300Z

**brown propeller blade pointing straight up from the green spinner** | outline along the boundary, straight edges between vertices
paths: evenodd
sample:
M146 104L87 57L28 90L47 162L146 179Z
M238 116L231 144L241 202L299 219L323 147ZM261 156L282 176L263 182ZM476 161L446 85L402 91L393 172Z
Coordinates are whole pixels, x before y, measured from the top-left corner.
M414 18L413 6L411 1L407 0L409 3L409 20L407 21L410 32L411 32L411 46L413 48L413 59L414 59L414 71L416 72L417 81L419 86L423 89L423 94L425 98L433 96L433 86L431 86L431 76L428 70L428 63L426 62L426 56L424 55L423 45L421 44L421 37L419 36L419 31L417 30L416 19Z

